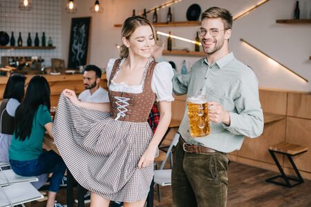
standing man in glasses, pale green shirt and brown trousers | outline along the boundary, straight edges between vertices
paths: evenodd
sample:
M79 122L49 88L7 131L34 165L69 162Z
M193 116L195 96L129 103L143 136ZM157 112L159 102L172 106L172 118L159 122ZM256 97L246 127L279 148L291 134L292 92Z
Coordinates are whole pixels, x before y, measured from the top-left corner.
M227 153L239 150L245 136L261 135L263 111L254 72L228 49L232 14L223 8L207 9L198 32L206 57L196 61L187 76L176 73L173 91L207 97L211 133L191 137L186 108L171 176L173 206L220 207L227 202Z

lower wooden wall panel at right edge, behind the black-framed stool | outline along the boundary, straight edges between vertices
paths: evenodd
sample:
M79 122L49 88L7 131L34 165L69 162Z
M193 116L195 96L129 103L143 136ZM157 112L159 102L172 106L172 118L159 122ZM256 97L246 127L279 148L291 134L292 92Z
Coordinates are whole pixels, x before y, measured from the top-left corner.
M310 106L309 106L310 107ZM286 127L286 141L292 144L308 146L308 151L293 157L294 163L299 170L311 172L311 120L288 117ZM290 167L288 159L284 166Z

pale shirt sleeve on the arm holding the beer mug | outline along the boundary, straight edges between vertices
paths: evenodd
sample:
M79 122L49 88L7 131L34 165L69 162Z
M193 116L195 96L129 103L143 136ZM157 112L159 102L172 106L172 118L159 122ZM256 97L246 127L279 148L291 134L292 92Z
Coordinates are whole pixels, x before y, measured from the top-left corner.
M263 133L263 110L258 95L258 80L254 74L239 80L234 98L236 112L229 112L230 126L224 128L235 135L255 138Z

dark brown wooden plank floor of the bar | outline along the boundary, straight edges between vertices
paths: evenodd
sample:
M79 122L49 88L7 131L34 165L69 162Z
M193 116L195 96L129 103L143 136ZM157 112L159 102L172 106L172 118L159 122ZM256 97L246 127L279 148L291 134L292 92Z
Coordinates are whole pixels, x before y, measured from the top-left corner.
M227 207L244 206L282 206L282 207L310 207L311 181L293 188L285 188L268 184L265 179L276 175L260 168L245 166L232 162L229 165L229 191ZM171 205L171 186L160 187L162 201L158 201L155 191L154 206L169 207ZM61 204L66 204L66 188L62 188L57 195ZM26 207L44 207L45 202L32 201ZM88 207L89 205L86 205ZM189 206L191 207L191 206Z

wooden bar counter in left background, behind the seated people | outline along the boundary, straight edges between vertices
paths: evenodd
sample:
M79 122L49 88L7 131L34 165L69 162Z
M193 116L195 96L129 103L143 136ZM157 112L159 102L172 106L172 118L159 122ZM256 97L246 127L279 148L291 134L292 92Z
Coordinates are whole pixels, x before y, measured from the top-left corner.
M30 81L35 75L26 75L26 81ZM77 94L84 90L83 75L73 74L73 75L42 75L50 84L50 105L57 106L59 95L65 89L75 90ZM102 74L102 80L100 85L102 88L107 88L106 74ZM6 88L6 83L8 82L8 77L0 77L0 100L3 97L4 89Z

